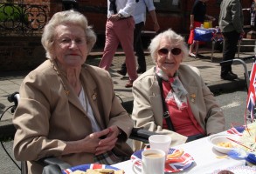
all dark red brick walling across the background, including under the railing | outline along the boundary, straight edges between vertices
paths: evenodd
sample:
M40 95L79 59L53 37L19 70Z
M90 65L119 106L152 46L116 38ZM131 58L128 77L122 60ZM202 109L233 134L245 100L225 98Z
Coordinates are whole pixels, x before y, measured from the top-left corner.
M175 12L163 13L156 10L156 14L162 30L172 28L178 33L188 34L190 25L190 10L195 0L180 0L182 6L180 10ZM14 1L20 2L20 1ZM62 10L62 0L24 0L24 3L46 4L48 6L48 17ZM36 3L35 3L36 2ZM106 23L106 5L107 0L78 0L80 12L84 13L88 21L95 30L101 30L104 34ZM207 3L207 13L218 19L219 5L218 0L210 0ZM243 8L249 8L252 0L243 0ZM90 6L90 5L93 5ZM96 10L96 14L93 11ZM245 24L250 23L250 14L244 12ZM148 17L146 30L153 30L150 23L151 18ZM218 25L218 20L213 26ZM100 36L98 44L104 45L104 36ZM45 61L45 50L40 43L40 35L38 37L0 37L0 71L5 70L32 70Z

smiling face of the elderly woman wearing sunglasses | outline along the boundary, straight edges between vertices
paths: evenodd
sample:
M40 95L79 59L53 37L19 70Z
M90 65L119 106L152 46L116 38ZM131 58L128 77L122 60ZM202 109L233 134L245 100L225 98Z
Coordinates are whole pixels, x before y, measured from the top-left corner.
M167 76L174 76L182 62L182 58L183 52L179 45L170 43L170 39L161 39L156 53L156 64Z

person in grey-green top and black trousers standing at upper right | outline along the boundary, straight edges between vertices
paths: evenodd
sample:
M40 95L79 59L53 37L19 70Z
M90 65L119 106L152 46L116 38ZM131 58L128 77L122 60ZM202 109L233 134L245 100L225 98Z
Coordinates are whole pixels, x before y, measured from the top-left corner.
M225 41L223 61L231 60L235 57L237 43L245 34L243 23L244 17L240 1L223 0L220 4L218 20ZM238 76L232 72L232 63L221 65L220 77L224 80L234 80L238 78Z

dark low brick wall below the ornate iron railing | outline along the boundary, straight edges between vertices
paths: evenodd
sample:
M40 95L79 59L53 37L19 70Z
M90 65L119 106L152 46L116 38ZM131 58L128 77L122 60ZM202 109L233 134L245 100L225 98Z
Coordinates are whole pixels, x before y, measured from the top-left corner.
M40 37L0 37L0 70L32 70L45 60Z

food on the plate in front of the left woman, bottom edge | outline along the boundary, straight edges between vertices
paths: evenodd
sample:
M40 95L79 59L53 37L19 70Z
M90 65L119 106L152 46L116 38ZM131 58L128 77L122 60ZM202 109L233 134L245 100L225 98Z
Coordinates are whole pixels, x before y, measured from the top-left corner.
M124 174L124 171L113 169L87 169L86 171L73 171L71 174Z

